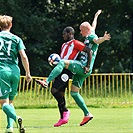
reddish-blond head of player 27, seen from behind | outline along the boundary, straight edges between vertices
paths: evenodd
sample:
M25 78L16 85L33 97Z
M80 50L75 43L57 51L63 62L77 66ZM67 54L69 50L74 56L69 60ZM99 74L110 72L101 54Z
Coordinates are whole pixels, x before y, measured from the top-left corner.
M0 29L7 30L12 27L12 17L7 15L0 15Z

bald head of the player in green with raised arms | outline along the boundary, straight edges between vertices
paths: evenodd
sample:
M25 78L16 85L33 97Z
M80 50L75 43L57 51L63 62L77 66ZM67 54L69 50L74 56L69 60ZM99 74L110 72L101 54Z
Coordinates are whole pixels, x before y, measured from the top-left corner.
M86 37L91 33L91 25L89 22L83 22L80 25L80 33L82 34L83 37Z

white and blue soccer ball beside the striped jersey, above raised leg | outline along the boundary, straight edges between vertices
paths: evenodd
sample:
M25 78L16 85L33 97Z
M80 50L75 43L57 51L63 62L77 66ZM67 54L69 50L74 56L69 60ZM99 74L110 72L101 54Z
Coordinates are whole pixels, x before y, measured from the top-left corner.
M48 57L48 62L50 66L55 66L60 62L61 58L58 54L53 53Z

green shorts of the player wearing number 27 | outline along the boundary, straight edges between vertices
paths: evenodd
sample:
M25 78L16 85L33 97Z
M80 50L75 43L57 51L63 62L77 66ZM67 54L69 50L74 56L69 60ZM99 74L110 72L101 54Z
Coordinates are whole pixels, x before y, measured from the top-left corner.
M17 94L20 74L12 71L0 71L0 99L13 100Z

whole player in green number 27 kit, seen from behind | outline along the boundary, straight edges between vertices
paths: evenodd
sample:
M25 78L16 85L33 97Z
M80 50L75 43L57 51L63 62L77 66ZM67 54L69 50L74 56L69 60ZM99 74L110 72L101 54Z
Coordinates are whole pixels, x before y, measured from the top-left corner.
M19 126L19 132L25 133L22 118L17 116L13 106L13 100L17 94L20 79L20 68L18 67L18 53L26 72L27 83L31 81L29 61L25 53L23 41L12 34L12 17L0 16L0 104L7 116L6 133L13 133L13 122Z

